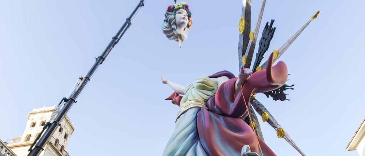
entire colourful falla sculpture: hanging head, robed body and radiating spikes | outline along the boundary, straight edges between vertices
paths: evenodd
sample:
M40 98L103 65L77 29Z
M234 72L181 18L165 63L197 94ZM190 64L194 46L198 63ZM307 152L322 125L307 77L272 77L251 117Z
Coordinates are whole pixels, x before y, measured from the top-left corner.
M185 87L165 79L162 74L162 83L174 90L166 100L171 100L179 107L177 116L173 119L176 122L174 132L166 144L164 156L276 156L255 134L255 124L251 120L252 112L249 110L250 98L256 93L265 93L284 86L288 78L287 66L283 61L277 62L276 65L274 63L320 12L316 12L299 31L278 50L274 50L268 60L260 66L276 29L272 28L273 20L270 26L266 23L259 42L261 50L256 54L253 73L252 70L244 68L246 63L243 62L247 62L246 55L249 56L254 52L265 3L266 0L263 0L254 30L246 29L248 30L246 34L249 33L246 38L243 38L245 19L244 17L240 19L239 33L242 40L239 41L243 43L245 39L248 41L248 46L245 45L246 51L244 51L243 44L239 44L239 61L242 60L242 64L240 63L238 77L229 71L220 71L209 76L200 76ZM246 13L244 15L251 16L250 10L251 0L243 0L242 12ZM250 23L250 20L247 21ZM178 3L168 7L162 31L167 38L178 41L181 47L181 43L187 38L191 24L189 6L184 2ZM251 61L252 58L249 58L248 62ZM285 140L304 155L288 134L280 128L277 121L272 116L269 117L270 113L265 106L258 103L254 104L259 107L255 108L256 111L261 112L260 114L267 112L266 121L271 121L268 123L277 130L277 136L286 137ZM242 120L246 117L249 118L250 123Z

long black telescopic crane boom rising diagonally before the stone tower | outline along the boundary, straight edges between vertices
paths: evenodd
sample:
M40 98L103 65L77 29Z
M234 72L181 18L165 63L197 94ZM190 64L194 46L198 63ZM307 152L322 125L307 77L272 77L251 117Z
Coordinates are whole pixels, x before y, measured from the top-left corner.
M97 67L99 67L101 65L101 63L103 63L105 58L108 56L109 52L112 50L112 48L115 46L115 44L118 43L117 41L120 40L120 38L122 37L124 32L128 29L128 27L131 23L131 18L137 12L138 8L144 6L143 1L144 0L139 1L137 7L135 7L135 9L131 13L131 15L126 19L126 22L124 22L123 26L119 29L119 31L116 33L116 35L112 38L112 40L108 44L107 48L105 48L103 53L96 59L94 65L91 67L89 72L86 74L86 76L81 80L81 82L76 87L76 89L69 96L68 101L65 103L65 106L62 107L61 111L58 113L58 115L56 116L54 121L47 126L47 130L45 130L45 133L43 135L42 135L42 133L39 134L39 136L42 135L42 137L41 137L41 139L39 139L38 143L35 145L35 148L30 150L28 156L38 156L44 150L43 149L44 145L51 138L55 129L61 122L61 120L66 116L67 112L70 110L72 105L76 102L78 95L80 95L82 89L84 89L86 84L90 81L90 78L95 73ZM34 144L35 144L35 142L34 142Z

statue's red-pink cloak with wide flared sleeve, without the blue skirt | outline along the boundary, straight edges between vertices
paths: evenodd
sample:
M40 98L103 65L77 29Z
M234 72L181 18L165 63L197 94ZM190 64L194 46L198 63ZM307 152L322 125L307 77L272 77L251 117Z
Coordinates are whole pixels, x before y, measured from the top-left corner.
M209 77L227 76L230 78L218 87L215 96L207 102L208 109L201 108L197 113L197 131L199 142L207 155L239 156L244 145L249 145L252 152L259 153L260 143L264 156L275 156L274 152L258 138L249 125L238 117L247 117L245 106L249 106L251 94L277 89L287 81L288 71L284 62L272 66L273 54L270 55L267 68L253 73L243 85L242 92L235 95L235 82L230 72L221 71ZM166 100L180 104L181 96L173 93ZM257 138L256 138L257 137Z

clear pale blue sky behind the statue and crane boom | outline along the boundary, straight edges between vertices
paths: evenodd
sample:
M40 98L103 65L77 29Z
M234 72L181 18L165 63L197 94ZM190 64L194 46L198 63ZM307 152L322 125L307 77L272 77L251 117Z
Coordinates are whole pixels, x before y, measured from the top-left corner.
M200 75L238 73L242 1L185 0L192 11L188 39L168 40L161 24L173 0L146 0L130 29L92 77L68 116L70 155L162 155L178 107L161 83L187 85ZM261 0L252 0L252 24ZM23 134L28 112L53 106L85 76L138 0L0 2L0 138ZM364 0L268 0L264 24L275 19L269 50L278 49L317 11L321 13L280 60L295 90L291 101L257 95L307 155L345 151L365 117ZM256 46L257 50L258 46ZM267 123L265 142L277 155L299 155Z

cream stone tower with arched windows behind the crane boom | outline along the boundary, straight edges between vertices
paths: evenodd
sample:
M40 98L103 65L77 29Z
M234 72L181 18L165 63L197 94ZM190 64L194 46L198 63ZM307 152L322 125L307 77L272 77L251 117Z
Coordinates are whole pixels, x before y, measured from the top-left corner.
M55 106L33 109L28 114L27 125L23 135L13 138L11 144L7 146L18 156L28 155L28 149L55 110ZM58 126L55 130L45 147L43 147L45 150L39 156L69 156L66 149L74 130L73 123L65 116L61 121L61 126Z

